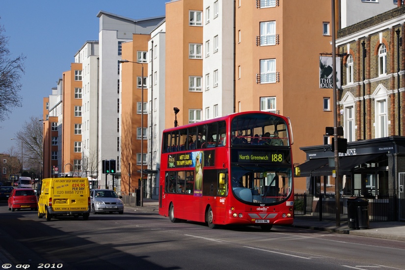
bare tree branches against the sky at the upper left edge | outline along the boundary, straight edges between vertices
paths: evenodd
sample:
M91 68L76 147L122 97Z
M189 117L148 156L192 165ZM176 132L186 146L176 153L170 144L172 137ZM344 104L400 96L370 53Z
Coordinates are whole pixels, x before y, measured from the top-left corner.
M8 37L4 32L4 27L0 25L0 122L8 118L13 108L22 106L20 79L25 73L24 61L27 58L23 54L11 57L7 48Z

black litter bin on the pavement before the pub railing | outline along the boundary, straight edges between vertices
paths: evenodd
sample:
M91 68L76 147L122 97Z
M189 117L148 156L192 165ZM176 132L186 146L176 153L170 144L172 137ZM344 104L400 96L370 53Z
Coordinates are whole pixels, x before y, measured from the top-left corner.
M350 197L347 204L349 228L368 229L370 226L369 201L364 197Z

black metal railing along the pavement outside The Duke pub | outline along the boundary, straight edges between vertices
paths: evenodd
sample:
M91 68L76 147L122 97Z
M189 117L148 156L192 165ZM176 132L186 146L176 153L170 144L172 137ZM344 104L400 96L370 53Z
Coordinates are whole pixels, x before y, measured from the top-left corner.
M347 201L350 196L340 197L340 220L348 221ZM368 199L370 221L397 221L397 195L373 196ZM319 220L336 220L336 198L334 194L295 194L294 217Z

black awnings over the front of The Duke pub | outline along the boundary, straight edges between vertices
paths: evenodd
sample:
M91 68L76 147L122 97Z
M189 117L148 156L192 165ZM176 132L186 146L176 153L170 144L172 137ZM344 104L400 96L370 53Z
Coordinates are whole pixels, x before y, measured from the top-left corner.
M385 155L385 154L383 154ZM341 172L348 173L354 167L361 165L363 163L372 161L377 159L378 157L382 156L381 154L374 154L374 155L363 155L363 156L343 156L339 157L339 174ZM299 165L299 169L301 171L301 177L308 177L308 176L322 176L322 175L332 175L332 170L335 167L329 167L329 159L328 158L321 158L321 159L313 159L307 162L304 162Z

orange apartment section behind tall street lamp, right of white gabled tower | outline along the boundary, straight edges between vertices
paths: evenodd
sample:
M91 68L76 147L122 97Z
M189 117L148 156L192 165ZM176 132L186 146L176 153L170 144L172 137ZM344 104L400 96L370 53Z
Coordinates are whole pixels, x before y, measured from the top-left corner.
M143 66L143 169L146 169L147 153L147 95L148 95L148 41L150 35L133 34L133 41L122 44L121 63L121 191L134 192L139 187L141 169L141 109ZM135 62L135 63L133 63ZM131 174L131 177L129 176ZM146 176L143 175L143 179ZM145 183L144 183L145 185ZM145 190L145 189L144 189Z

